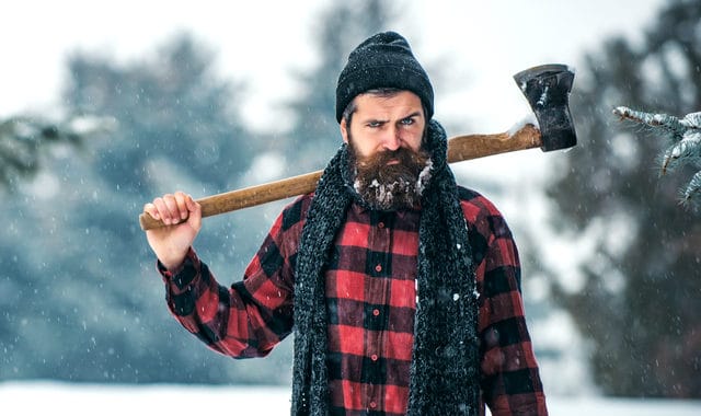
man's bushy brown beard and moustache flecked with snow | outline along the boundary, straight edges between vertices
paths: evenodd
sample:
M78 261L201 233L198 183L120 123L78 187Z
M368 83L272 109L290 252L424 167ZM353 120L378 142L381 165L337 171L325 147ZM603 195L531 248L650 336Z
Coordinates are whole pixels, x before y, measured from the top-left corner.
M417 207L433 165L426 151L399 148L363 157L352 138L348 143L356 169L353 187L363 201L386 211Z

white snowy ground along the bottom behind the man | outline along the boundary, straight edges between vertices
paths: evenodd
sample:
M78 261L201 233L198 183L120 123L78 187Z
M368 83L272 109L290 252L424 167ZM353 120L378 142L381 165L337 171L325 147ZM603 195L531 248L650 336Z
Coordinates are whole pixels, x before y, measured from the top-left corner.
M84 385L55 382L0 383L2 414L71 416L168 416L222 413L289 414L288 388L183 385ZM563 397L548 400L551 415L698 416L701 401ZM9 413L5 413L10 411Z

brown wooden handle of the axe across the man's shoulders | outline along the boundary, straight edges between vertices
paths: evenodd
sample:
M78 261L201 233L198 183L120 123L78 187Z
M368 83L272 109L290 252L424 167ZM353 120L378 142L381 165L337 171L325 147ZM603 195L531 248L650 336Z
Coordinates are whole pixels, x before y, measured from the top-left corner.
M458 136L448 140L448 162L455 163L541 146L540 131L532 124L527 124L514 135L501 132ZM317 188L321 174L322 171L317 171L262 185L230 190L197 199L197 203L202 206L203 218L230 212L273 200L309 194ZM153 217L146 212L139 216L139 223L142 230L163 227L161 221L154 220Z

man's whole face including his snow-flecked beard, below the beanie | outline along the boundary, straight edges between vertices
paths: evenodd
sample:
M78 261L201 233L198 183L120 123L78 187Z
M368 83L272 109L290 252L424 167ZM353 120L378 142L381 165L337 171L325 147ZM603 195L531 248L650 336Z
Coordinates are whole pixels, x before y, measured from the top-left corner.
M356 192L376 209L416 207L430 177L430 159L422 150L421 100L410 92L364 94L354 104L341 131L353 155Z

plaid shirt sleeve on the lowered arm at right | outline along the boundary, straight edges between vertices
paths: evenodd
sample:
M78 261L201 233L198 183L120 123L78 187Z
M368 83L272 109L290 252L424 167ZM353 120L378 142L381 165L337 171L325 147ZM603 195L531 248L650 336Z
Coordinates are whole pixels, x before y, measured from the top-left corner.
M481 385L493 416L547 415L520 289L518 251L506 221L476 197L471 236L480 293ZM468 218L470 222L470 218Z

